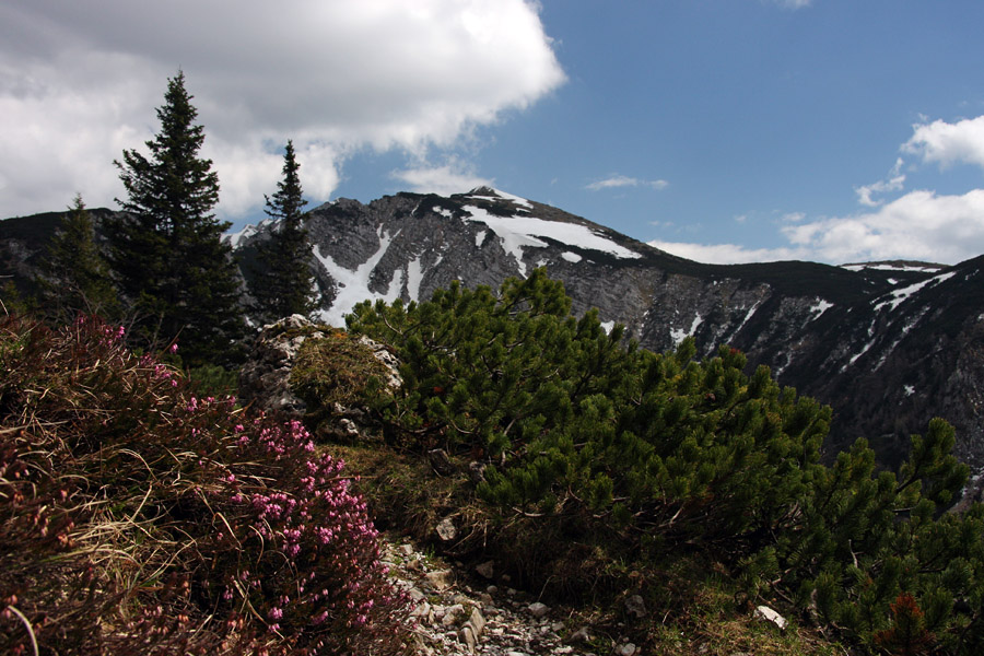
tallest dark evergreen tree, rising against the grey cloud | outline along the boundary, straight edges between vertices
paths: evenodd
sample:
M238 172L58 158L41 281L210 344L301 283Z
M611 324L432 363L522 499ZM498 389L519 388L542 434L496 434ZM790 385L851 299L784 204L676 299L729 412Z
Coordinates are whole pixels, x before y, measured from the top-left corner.
M227 359L243 336L239 285L230 223L212 213L219 176L198 155L204 141L185 74L167 81L157 108L161 131L145 142L150 157L124 151L115 162L127 190L125 215L110 222L110 263L149 342L178 337L187 364Z

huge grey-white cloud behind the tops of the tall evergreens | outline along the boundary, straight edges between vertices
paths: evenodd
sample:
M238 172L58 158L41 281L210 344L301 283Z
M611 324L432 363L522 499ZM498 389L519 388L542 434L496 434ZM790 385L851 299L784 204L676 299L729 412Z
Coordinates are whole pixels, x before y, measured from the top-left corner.
M0 206L50 210L122 192L112 166L159 129L178 68L237 213L294 140L327 197L366 147L424 153L564 82L530 0L7 0L0 4Z

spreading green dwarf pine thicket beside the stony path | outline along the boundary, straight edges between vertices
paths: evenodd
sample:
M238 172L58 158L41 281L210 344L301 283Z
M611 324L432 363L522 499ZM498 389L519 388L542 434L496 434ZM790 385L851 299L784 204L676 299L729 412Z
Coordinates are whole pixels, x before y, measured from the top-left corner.
M946 422L912 437L898 476L863 440L828 467L829 408L765 367L746 374L727 347L694 362L690 339L663 355L625 344L595 313L570 316L541 270L497 294L453 285L425 303L363 304L349 327L403 362L390 437L484 461L476 493L493 523L522 526L501 548L540 546L526 554L542 567L526 572L536 585L555 585L585 549L609 575L703 553L752 596L795 601L858 645L984 649L984 509L944 513L968 473ZM588 575L566 574L569 590Z

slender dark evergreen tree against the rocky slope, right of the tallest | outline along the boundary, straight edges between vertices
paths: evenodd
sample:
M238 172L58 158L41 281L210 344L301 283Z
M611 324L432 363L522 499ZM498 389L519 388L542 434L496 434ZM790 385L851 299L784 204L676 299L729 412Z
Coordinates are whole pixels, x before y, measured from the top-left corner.
M270 238L258 246L250 283L256 300L254 312L262 321L274 321L292 314L311 315L317 308L313 293L311 244L303 224L301 165L294 144L288 141L283 155L283 179L277 192L267 199L266 213L276 222Z

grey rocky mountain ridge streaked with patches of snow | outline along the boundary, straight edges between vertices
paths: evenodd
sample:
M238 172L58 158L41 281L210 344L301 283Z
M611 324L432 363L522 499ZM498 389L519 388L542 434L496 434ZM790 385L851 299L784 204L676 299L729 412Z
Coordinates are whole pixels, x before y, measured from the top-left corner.
M36 219L0 222L0 274L23 276L36 257L25 222ZM703 265L490 188L338 199L308 212L306 226L327 323L343 325L366 298L426 300L454 280L497 286L546 267L575 312L597 307L645 348L687 336L702 355L729 344L830 403L829 455L864 436L892 466L938 415L957 427L957 455L984 469L984 257L952 267ZM270 229L230 235L243 262Z

